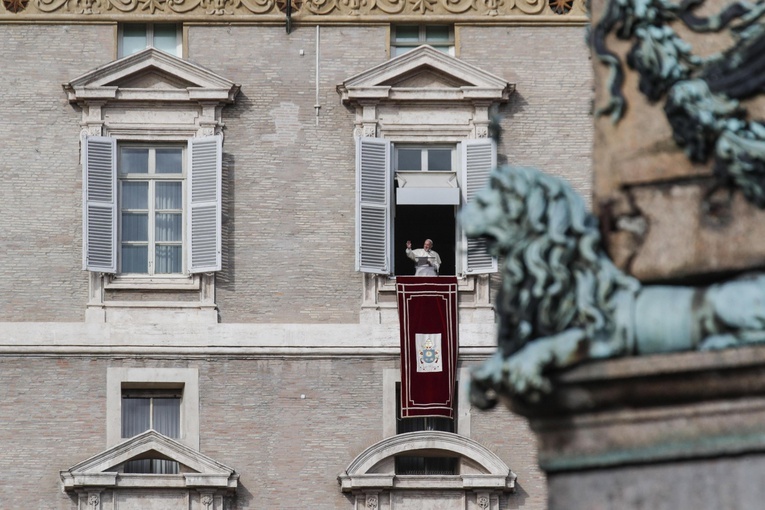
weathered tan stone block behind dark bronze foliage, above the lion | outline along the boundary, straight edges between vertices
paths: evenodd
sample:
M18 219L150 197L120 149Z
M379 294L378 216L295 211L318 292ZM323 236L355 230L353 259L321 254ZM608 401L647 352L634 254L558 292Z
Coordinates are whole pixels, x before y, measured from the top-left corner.
M592 1L593 25L606 0ZM730 0L706 0L698 16L718 13ZM693 33L671 24L693 48L708 57L730 47L727 30ZM593 208L600 218L611 258L643 282L708 282L720 275L765 266L765 211L739 191L715 192L711 161L691 162L675 143L664 112L665 98L649 101L638 89L638 74L626 65L633 42L606 39L625 72L621 90L627 102L616 124L595 117ZM595 107L608 103L609 70L593 56ZM760 72L753 70L753 72ZM765 118L765 95L741 101L749 119Z

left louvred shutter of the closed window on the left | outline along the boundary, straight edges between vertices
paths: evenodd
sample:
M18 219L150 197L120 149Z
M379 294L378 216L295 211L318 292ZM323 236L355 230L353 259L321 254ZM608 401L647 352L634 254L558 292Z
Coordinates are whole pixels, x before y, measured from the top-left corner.
M86 136L82 151L82 268L117 272L117 144Z

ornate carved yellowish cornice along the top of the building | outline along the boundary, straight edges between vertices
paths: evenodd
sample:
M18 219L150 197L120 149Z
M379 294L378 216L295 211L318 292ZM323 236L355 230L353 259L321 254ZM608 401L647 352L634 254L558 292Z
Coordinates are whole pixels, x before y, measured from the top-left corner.
M583 24L584 0L556 14L546 0L293 0L292 22ZM2 0L7 21L283 23L284 0Z

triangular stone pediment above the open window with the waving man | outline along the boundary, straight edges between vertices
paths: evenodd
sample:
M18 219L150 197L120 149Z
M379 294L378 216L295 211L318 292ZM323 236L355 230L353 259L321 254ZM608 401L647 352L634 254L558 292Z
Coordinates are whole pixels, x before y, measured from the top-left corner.
M514 88L514 84L498 76L427 45L352 76L337 87L343 102L476 98L505 101Z

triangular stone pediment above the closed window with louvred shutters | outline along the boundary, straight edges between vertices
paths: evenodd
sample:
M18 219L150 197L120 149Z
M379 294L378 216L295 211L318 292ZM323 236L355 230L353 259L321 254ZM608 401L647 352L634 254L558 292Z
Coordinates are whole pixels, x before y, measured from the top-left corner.
M232 102L234 82L155 48L109 62L64 84L72 102L88 100Z

